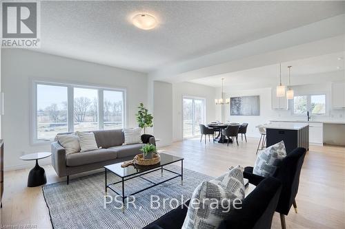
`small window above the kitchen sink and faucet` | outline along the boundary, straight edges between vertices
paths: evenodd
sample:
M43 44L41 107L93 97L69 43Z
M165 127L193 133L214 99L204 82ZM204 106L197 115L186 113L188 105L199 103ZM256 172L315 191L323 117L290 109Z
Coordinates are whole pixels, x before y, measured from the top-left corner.
M295 115L326 114L326 95L295 96L293 98L293 113Z

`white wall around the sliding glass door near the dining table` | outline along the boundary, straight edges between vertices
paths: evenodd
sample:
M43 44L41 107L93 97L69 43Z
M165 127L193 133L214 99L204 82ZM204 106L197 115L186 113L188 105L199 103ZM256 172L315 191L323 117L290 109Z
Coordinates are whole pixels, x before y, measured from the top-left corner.
M195 83L172 84L172 140L183 139L182 133L182 98L183 96L199 97L206 100L206 123L216 120L214 87L198 85ZM220 96L220 94L219 94ZM219 117L219 116L218 116Z

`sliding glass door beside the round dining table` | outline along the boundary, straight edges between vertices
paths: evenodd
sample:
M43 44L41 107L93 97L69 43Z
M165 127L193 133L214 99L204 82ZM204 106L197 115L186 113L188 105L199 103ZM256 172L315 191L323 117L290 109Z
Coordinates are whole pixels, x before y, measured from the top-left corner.
M200 135L199 124L205 119L205 100L203 98L183 98L183 137Z

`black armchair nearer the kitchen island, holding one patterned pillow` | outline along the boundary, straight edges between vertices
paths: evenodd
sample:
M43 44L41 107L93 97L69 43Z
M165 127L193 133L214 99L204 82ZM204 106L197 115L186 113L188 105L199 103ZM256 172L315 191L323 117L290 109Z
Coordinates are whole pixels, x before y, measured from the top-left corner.
M282 228L286 228L285 215L293 205L297 212L297 204L295 197L299 186L299 175L301 173L302 164L306 155L306 149L297 148L288 153L282 161L273 177L282 182L282 194L279 197L276 212L280 213ZM252 184L259 184L264 177L253 174L253 167L244 168L244 178L249 179Z

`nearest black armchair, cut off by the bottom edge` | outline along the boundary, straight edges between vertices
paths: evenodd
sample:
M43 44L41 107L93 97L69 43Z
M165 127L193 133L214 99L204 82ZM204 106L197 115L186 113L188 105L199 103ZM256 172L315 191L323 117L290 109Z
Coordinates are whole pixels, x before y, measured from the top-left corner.
M282 184L279 180L268 177L242 201L241 209L232 209L230 215L221 222L219 229L267 229L272 223ZM189 201L186 205L189 204ZM179 206L150 223L144 229L180 229L187 215L185 206Z

